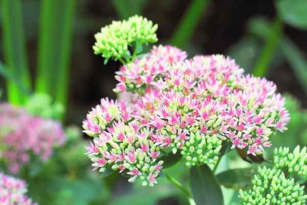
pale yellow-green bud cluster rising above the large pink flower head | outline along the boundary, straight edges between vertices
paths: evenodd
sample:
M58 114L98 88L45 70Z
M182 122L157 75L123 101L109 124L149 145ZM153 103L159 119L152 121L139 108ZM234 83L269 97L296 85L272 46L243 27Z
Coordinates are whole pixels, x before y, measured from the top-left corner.
M121 59L130 56L128 46L136 42L137 46L158 41L156 31L158 25L142 16L131 16L128 20L113 21L111 25L101 28L95 34L96 43L93 46L95 54L102 54L105 62L109 58Z

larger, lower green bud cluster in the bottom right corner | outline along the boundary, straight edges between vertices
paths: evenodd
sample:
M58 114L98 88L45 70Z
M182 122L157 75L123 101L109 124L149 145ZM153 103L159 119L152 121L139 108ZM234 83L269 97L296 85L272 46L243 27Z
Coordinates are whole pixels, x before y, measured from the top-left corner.
M252 183L251 190L239 190L238 198L243 200L242 204L305 204L307 199L304 186L300 186L292 177L285 177L284 173L276 168L259 167Z

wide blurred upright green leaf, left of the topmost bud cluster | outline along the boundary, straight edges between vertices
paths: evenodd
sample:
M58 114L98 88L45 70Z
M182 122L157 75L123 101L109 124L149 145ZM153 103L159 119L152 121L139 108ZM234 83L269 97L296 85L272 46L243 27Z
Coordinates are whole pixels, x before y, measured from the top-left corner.
M67 106L75 0L42 0L36 91Z

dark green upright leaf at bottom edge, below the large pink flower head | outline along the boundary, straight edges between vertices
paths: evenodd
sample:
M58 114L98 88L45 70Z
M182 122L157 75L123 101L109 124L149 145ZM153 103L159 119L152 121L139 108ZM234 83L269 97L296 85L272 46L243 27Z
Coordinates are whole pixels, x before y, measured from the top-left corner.
M193 199L197 205L224 205L221 187L208 165L191 167L189 177Z

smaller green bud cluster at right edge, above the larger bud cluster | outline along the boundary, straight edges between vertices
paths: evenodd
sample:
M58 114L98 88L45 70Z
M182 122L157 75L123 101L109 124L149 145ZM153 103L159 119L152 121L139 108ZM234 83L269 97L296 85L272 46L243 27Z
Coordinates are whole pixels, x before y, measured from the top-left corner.
M288 168L289 173L297 173L307 180L307 153L306 147L300 150L297 146L293 153L289 153L289 148L275 148L274 164L277 169Z

